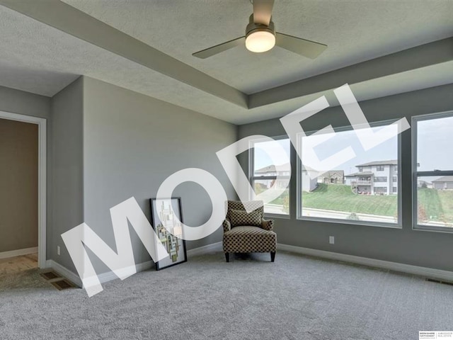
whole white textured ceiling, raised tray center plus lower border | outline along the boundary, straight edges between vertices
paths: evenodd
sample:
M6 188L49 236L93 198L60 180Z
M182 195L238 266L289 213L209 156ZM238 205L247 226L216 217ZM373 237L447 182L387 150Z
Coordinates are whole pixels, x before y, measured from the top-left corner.
M200 60L192 53L243 35L252 11L248 0L64 2L246 94L453 36L451 0L276 0L277 31L325 43L328 49L319 58L278 47L263 54L236 47ZM236 124L285 115L319 95L248 109L6 7L0 6L0 18L3 86L53 96L84 74ZM352 89L365 100L451 79L452 60L367 79Z

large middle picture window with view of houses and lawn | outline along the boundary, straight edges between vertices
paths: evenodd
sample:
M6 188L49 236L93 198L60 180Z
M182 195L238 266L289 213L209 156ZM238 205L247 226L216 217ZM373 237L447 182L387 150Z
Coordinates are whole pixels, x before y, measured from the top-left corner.
M372 130L377 132L383 125L389 124L391 123L383 122L373 125ZM302 150L304 140L310 138L307 135L308 137L299 136L299 150ZM323 140L314 148L316 157L321 161L345 147L352 147L356 156L336 166L336 169L325 169L343 176L335 184L320 180L325 176L323 174L318 180L307 176L303 162L299 162L297 217L336 223L341 220L360 225L401 225L398 190L394 192L392 186L385 184L389 177L376 176L379 174L376 173L377 166L392 169L394 164L398 164L398 135L366 152L352 128L336 129L335 134Z

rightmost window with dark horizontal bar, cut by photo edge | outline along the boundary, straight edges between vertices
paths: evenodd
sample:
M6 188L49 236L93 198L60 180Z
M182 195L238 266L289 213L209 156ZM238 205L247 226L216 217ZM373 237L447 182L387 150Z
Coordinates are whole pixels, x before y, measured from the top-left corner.
M453 232L453 112L413 118L414 227Z

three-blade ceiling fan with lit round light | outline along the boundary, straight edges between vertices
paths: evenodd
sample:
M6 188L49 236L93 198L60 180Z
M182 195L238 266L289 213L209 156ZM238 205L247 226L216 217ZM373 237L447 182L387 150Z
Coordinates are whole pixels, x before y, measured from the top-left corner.
M274 0L253 0L253 13L249 18L245 36L195 52L193 56L205 59L230 48L243 45L244 42L247 50L251 52L266 52L277 45L285 48L285 50L311 59L315 59L323 50L326 50L327 45L319 42L275 32L275 26L271 18L273 6Z

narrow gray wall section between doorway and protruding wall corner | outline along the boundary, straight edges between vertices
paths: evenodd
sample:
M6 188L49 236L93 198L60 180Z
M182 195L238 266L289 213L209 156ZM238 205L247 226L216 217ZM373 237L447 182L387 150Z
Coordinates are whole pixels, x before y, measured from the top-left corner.
M52 97L48 154L47 259L75 272L61 234L84 222L84 86L80 77ZM57 245L61 255L57 255Z

